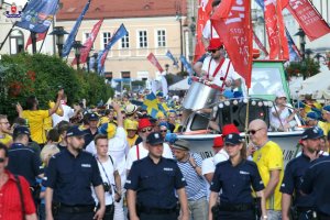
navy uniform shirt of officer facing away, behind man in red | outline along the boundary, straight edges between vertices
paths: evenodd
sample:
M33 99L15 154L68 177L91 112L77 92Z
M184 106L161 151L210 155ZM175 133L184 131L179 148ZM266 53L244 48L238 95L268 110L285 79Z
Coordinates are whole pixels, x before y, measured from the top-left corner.
M24 176L30 186L35 186L35 177L44 172L38 155L32 148L20 143L13 143L8 155L8 169L12 174Z

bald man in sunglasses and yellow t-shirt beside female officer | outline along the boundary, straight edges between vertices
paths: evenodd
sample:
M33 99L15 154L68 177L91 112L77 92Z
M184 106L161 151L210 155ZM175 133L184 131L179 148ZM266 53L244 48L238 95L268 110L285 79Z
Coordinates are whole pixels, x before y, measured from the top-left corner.
M268 140L267 124L263 120L251 121L248 132L252 142L250 147L256 148L253 153L253 161L266 187L264 194L268 220L280 219L279 187L284 175L283 152L275 142Z

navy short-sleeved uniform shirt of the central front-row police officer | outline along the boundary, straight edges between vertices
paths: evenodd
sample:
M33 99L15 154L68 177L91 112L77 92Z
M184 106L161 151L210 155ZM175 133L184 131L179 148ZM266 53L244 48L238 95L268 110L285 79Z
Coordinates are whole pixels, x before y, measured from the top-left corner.
M142 207L172 209L177 201L174 189L186 185L174 160L161 157L155 164L146 156L133 163L124 188L138 191L138 204Z

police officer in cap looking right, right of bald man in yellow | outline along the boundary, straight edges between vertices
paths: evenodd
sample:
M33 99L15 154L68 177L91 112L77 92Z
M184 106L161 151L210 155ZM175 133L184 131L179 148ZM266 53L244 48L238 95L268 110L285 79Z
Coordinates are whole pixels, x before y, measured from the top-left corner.
M290 161L285 168L282 193L282 218L289 220L292 198L294 197L293 219L308 220L312 217L314 195L301 196L300 188L302 176L310 166L310 163L318 157L318 146L322 132L319 128L310 128L304 131L301 138L302 153Z

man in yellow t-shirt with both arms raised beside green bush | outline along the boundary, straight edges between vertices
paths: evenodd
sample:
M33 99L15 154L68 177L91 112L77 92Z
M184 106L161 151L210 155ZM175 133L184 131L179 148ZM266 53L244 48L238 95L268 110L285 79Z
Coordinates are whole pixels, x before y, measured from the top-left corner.
M37 144L46 143L46 133L44 130L44 120L51 117L59 107L64 90L61 89L57 92L57 100L53 108L48 110L38 110L38 101L34 96L31 96L26 99L26 110L23 110L21 105L16 105L16 111L19 117L28 121L31 131L31 139Z

